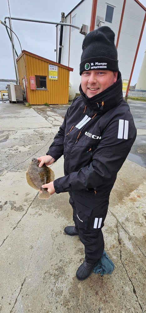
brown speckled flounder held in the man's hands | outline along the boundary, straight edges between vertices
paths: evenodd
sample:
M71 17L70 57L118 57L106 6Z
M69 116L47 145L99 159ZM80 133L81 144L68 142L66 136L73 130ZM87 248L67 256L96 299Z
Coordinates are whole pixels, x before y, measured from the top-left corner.
M49 199L50 193L48 192L47 188L42 188L42 185L53 182L54 172L45 164L43 164L42 167L38 167L39 164L40 162L37 159L32 159L32 162L26 171L26 179L29 186L36 190L43 191L42 193L39 193L39 199Z

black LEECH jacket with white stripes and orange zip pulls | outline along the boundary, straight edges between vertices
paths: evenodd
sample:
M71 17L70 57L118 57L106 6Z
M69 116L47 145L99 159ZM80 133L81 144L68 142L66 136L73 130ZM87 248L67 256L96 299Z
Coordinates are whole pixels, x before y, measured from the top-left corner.
M136 138L121 74L99 95L88 98L81 86L80 92L47 152L55 160L64 155L65 176L54 181L54 188L56 193L109 194Z

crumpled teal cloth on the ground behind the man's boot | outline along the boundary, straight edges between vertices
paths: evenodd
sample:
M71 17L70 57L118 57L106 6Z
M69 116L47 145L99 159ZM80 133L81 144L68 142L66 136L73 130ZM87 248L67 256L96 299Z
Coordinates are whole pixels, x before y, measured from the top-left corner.
M100 274L103 276L104 274L111 274L114 270L114 264L112 260L109 259L108 254L103 251L103 255L100 260L95 264L93 268L93 272L95 274Z

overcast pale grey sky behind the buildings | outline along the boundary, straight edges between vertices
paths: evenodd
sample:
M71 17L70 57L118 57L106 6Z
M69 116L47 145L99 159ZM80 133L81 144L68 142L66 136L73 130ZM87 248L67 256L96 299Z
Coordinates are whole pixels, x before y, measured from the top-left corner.
M12 17L60 22L61 12L63 11L67 15L79 2L80 0L9 0L9 5ZM140 2L146 7L146 0L141 0ZM4 21L6 16L9 16L8 0L1 0L0 19ZM12 20L12 27L20 40L22 49L56 61L56 53L54 52L54 49L56 49L55 25ZM75 31L78 32L78 30ZM16 36L13 36L15 49L20 54L20 45ZM11 42L3 25L0 25L0 39L0 78L15 79ZM146 26L139 47L131 85L137 82L145 49Z

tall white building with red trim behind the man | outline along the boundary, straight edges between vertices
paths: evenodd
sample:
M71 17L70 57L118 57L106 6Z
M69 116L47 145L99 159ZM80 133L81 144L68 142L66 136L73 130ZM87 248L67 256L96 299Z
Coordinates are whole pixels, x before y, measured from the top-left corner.
M66 23L85 24L88 31L109 26L115 33L118 65L127 96L145 24L146 8L138 0L82 0L66 15ZM64 23L65 24L65 23ZM61 26L57 26L57 58ZM80 85L79 64L84 35L78 29L63 26L61 63L73 68L70 83L76 93Z

